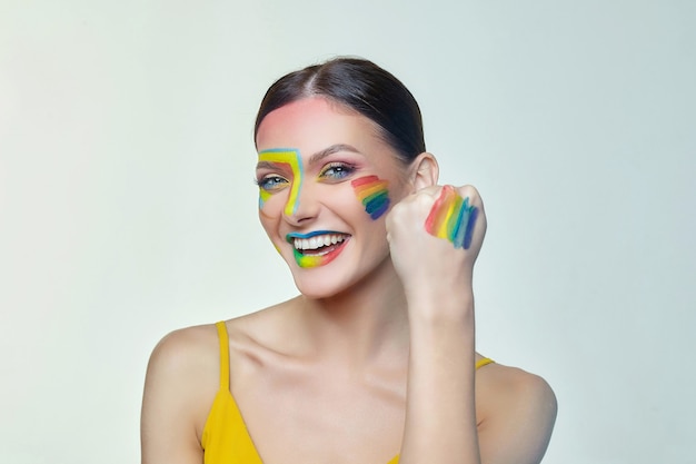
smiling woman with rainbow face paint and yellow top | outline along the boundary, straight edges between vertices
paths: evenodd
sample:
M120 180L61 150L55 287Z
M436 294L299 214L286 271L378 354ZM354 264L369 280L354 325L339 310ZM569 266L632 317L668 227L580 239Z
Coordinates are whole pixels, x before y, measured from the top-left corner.
M538 463L554 394L475 352L486 216L437 185L411 93L335 59L274 83L255 136L259 217L300 295L160 342L142 462Z

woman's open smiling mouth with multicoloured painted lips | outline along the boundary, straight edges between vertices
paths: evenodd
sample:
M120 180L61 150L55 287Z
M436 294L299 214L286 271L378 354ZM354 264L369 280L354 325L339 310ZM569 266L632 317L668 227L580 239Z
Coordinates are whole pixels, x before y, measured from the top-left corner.
M294 246L295 261L299 267L311 268L331 263L344 250L348 236L332 230L309 234L290 233L286 240Z

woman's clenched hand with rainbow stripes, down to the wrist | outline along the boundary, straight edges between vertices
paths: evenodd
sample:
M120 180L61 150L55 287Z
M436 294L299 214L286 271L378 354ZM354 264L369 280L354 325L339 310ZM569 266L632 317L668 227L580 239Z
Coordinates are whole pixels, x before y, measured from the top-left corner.
M427 187L395 205L387 240L407 297L470 294L485 235L484 205L471 186Z

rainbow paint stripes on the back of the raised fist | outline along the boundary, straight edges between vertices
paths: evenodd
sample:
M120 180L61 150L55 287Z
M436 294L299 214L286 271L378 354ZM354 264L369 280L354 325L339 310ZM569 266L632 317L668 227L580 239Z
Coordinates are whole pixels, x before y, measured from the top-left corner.
M477 217L478 208L469 205L469 197L461 198L453 186L445 186L426 219L426 230L449 240L455 248L468 249Z

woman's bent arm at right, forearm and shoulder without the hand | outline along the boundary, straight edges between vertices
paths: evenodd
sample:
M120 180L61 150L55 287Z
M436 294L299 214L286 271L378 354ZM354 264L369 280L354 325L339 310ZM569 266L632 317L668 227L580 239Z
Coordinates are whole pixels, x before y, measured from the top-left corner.
M470 308L463 312L465 317L473 315L473 304ZM557 411L548 384L497 364L484 367L475 379L473 330L467 329L473 316L468 320L411 317L411 323L400 463L540 463Z

